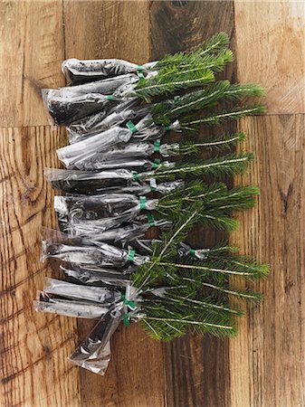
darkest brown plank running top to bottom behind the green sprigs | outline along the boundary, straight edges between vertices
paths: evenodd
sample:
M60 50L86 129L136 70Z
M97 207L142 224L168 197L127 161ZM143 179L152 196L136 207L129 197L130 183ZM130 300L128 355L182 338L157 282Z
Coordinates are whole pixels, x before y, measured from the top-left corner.
M234 46L232 2L154 2L151 6L151 60L191 48L212 34L225 31ZM234 80L234 64L224 76ZM205 128L204 135L234 132ZM224 235L196 228L190 242L194 247L214 244ZM164 345L166 355L167 405L229 406L230 375L228 341L187 335Z

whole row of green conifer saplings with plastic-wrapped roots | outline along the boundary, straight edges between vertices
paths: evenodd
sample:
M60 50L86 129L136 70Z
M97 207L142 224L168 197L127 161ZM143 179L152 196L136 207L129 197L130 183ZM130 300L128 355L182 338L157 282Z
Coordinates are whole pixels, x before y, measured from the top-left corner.
M234 336L243 304L262 298L238 283L264 278L266 265L225 241L187 243L198 224L207 237L211 228L234 231L234 213L252 208L259 194L221 179L243 173L253 159L233 153L244 133L203 137L207 126L264 111L259 85L217 80L232 60L227 35L218 33L143 65L67 60L62 72L71 86L43 90L70 144L57 150L65 168L44 172L61 192L54 199L60 231L43 230L43 260L57 278L46 279L34 307L97 320L73 364L104 374L110 337L130 321L157 340L187 330ZM168 142L169 131L179 141Z

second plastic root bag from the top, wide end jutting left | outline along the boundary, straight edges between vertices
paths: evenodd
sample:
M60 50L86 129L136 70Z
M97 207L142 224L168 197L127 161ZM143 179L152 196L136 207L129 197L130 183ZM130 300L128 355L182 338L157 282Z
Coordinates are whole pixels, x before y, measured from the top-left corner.
M137 81L137 75L129 74L58 90L43 89L43 103L55 124L70 124L104 109L114 99L109 95L119 87L125 89L126 84Z

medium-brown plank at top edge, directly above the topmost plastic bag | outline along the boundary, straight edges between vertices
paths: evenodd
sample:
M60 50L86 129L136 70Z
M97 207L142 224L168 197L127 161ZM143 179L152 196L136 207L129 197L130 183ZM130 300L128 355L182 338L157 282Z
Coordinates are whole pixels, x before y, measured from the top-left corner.
M64 0L66 58L148 62L147 1Z

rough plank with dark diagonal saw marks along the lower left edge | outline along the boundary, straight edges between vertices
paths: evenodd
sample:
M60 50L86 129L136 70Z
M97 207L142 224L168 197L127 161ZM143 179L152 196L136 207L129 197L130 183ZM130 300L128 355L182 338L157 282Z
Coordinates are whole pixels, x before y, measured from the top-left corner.
M41 226L55 224L44 166L58 166L62 131L0 131L1 397L3 407L80 406L72 318L35 313L33 298L49 271L41 263Z

